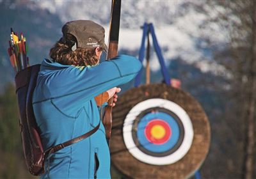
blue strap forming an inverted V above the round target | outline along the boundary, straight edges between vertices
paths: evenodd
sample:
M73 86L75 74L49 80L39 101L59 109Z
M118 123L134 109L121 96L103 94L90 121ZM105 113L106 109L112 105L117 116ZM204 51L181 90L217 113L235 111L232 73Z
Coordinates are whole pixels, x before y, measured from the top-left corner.
M168 70L167 70L166 65L164 63L163 54L162 54L161 49L159 47L159 44L157 42L156 34L155 34L154 27L153 27L152 23L150 23L150 24L144 23L144 25L143 25L143 36L142 36L141 47L140 47L140 52L139 52L139 59L142 63L143 59L145 57L145 40L146 40L146 36L147 36L148 31L150 31L150 33L152 35L152 41L153 41L154 49L156 51L157 58L158 58L159 63L161 65L161 72L162 72L163 77L164 77L164 82L166 84L170 85L170 76L168 74ZM138 87L140 85L142 71L143 70L141 69L139 74L135 78L135 82L134 82L135 87Z

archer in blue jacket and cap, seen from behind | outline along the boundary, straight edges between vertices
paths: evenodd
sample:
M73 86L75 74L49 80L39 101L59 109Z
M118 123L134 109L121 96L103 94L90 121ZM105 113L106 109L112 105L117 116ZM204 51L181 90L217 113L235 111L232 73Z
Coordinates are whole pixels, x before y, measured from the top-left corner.
M94 97L108 91L116 102L121 84L141 69L138 59L120 55L99 63L104 28L90 20L67 22L63 36L44 59L33 93L33 110L44 150L100 127L92 136L49 155L41 178L111 178L105 129ZM115 104L113 104L115 105ZM96 167L96 160L99 165Z

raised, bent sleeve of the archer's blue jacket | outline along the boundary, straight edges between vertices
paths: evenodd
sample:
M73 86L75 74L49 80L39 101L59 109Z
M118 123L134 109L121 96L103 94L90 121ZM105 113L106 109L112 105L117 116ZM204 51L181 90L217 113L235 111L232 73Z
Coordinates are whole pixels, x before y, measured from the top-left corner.
M138 59L121 55L96 66L71 66L60 70L49 81L52 104L72 113L100 93L131 81L140 69Z

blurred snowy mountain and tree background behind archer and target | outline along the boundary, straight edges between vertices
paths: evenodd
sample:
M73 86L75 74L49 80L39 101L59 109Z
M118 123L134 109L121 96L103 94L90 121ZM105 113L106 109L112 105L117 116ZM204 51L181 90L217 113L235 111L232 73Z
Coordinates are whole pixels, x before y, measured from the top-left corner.
M33 65L48 57L69 20L95 20L108 29L110 8L111 1L0 0L0 178L31 178L7 53L10 27L26 36ZM155 26L170 76L209 117L211 146L202 178L256 178L256 2L124 0L120 53L138 56L144 22ZM151 58L152 82L161 82L153 51ZM132 82L123 91L129 88Z

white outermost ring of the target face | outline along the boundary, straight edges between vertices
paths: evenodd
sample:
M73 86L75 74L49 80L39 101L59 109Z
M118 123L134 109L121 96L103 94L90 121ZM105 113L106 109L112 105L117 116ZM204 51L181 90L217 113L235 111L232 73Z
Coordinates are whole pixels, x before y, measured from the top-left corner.
M132 139L132 123L142 111L151 107L163 107L164 109L172 111L180 118L184 127L184 139L182 141L182 144L175 152L165 157L154 157L141 152L141 150L136 146ZM133 157L147 164L162 166L173 164L178 160L182 159L184 155L186 155L193 142L194 132L191 120L186 111L182 109L182 107L175 104L174 102L171 102L170 100L164 100L162 98L152 98L140 102L132 107L131 111L129 111L124 120L123 136L125 146L133 155Z

